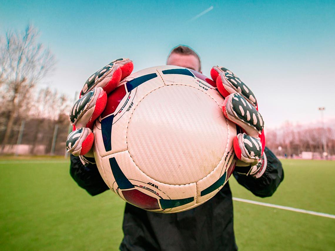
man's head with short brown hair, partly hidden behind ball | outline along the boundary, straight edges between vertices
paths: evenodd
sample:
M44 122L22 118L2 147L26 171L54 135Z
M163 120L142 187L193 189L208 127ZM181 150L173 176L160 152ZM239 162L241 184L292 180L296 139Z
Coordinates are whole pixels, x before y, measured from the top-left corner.
M167 65L177 65L201 72L201 61L198 54L190 47L179 45L172 49L166 60Z

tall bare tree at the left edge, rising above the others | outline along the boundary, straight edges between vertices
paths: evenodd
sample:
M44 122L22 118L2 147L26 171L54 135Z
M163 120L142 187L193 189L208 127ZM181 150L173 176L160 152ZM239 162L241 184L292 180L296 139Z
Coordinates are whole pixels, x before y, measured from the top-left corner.
M9 117L2 145L8 142L15 118L29 102L36 84L53 69L55 58L37 42L37 30L28 25L22 32L7 32L0 44L1 100L9 104ZM1 84L2 83L2 84Z

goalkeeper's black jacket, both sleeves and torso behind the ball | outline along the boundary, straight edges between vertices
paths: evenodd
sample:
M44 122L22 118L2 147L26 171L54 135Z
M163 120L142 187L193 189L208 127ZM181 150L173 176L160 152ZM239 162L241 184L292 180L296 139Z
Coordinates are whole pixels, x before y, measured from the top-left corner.
M259 179L233 173L237 181L256 196L271 196L284 178L280 161L268 149L267 168ZM71 156L70 174L91 195L109 188L96 166L86 167ZM124 238L120 250L237 250L233 231L232 196L225 186L204 204L179 213L154 213L126 203Z

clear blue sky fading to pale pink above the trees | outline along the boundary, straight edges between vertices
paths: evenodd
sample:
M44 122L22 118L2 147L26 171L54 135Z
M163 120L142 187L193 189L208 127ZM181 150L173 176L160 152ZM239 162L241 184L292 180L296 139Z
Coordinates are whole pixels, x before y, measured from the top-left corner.
M194 19L199 13L212 8ZM57 58L49 84L73 97L95 70L129 57L135 71L163 65L178 44L203 72L235 72L254 91L268 127L335 117L334 1L3 1L0 34L40 30Z

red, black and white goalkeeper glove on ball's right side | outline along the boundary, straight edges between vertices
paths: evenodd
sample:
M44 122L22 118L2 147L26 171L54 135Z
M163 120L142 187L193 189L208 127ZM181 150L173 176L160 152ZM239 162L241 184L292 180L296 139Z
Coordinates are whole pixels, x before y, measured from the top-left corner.
M254 93L230 70L213 66L211 77L221 95L224 116L237 124L242 133L234 138L234 151L239 159L235 170L259 178L266 169L264 121L258 112Z

